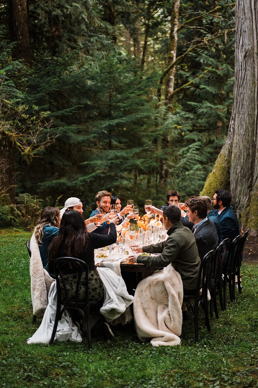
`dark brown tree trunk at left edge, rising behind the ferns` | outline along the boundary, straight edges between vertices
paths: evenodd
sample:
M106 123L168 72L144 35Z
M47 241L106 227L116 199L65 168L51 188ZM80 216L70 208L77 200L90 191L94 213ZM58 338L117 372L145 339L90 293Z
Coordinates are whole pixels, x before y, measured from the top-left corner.
M15 170L14 170L14 146L0 132L0 192L1 202L15 204Z

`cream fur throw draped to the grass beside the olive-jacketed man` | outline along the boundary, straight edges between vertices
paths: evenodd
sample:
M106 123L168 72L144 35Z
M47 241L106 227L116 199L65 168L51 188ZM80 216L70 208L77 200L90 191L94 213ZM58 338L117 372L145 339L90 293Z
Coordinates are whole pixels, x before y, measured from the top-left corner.
M178 345L182 329L183 283L171 264L137 286L133 302L135 328L140 341L152 346Z

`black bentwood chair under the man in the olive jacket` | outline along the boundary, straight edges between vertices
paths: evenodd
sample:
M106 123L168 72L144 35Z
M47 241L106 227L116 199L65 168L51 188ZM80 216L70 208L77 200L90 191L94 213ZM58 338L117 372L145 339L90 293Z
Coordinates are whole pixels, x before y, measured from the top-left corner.
M194 314L195 320L195 341L198 342L198 314L200 305L204 310L205 324L208 331L210 330L210 320L208 312L208 286L210 285L210 277L212 268L214 266L215 250L208 252L201 261L200 270L198 274L196 294L195 295L184 295L183 300ZM206 274L206 275L205 275Z

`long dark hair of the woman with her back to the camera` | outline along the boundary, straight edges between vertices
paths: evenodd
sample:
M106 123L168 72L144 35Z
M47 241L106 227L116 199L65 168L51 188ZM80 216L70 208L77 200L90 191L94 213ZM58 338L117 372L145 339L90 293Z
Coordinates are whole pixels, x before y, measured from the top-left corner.
M87 248L89 235L86 230L84 218L75 210L65 211L60 222L58 235L49 246L49 258L58 258L58 250L61 245L67 249L68 257L77 257Z

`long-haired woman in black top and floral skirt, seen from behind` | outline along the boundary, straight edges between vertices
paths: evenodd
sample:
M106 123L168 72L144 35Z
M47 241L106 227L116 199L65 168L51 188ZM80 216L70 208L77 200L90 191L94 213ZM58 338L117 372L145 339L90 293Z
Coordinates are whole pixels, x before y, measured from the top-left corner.
M94 249L102 248L116 242L116 226L114 220L109 220L108 236L88 233L84 218L75 210L65 211L60 223L58 235L49 247L48 270L54 272L54 262L58 257L75 257L83 260L89 267L89 300L104 298L103 284L99 278L94 263ZM71 274L70 291L73 291L73 273L76 268L67 268ZM81 295L83 298L84 295Z

